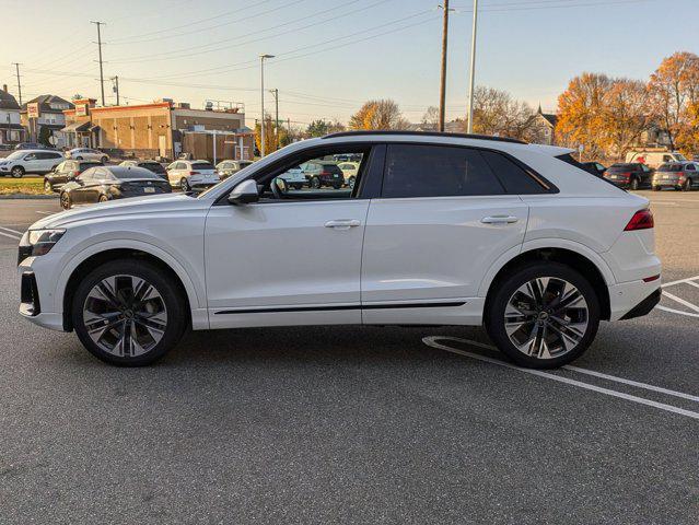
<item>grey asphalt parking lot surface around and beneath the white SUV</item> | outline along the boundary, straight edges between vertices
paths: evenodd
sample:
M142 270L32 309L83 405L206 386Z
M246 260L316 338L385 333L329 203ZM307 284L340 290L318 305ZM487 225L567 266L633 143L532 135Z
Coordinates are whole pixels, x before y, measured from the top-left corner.
M16 314L0 200L0 522L699 522L699 191L652 199L664 296L533 372L480 329L190 334L103 364Z

